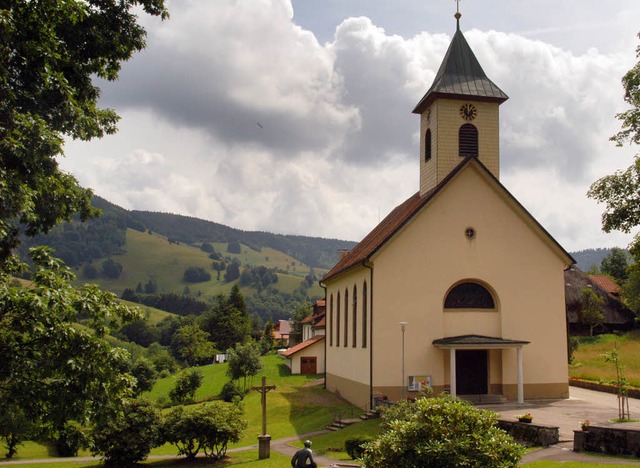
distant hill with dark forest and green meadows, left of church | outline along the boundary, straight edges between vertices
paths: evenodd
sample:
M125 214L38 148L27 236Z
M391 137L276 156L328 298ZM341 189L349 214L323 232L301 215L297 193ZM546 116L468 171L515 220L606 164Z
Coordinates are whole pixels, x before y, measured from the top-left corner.
M100 218L74 220L46 236L26 239L20 255L26 259L29 247L49 245L75 269L79 283L95 282L119 296L131 290L209 303L239 283L250 312L277 320L288 318L295 303L322 297L317 279L333 266L338 250L355 246L336 239L242 231L186 216L129 211L100 197L94 197L92 204L102 210ZM120 271L107 272L106 260ZM228 274L230 266L234 274ZM185 281L190 267L199 269L206 281Z

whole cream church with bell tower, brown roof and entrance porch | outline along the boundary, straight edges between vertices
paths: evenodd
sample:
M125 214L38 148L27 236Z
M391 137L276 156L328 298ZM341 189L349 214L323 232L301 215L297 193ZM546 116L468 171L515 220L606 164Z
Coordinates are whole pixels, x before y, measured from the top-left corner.
M324 276L326 387L567 398L571 256L500 183L499 107L458 25L420 116L420 189Z

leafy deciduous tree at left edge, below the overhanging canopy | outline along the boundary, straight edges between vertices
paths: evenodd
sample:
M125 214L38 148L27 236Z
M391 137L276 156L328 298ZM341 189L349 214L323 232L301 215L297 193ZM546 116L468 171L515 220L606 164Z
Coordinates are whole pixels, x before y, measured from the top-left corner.
M140 313L95 285L71 286L73 274L47 248L32 249L32 258L30 287L0 272L0 393L53 430L95 420L117 409L135 383L128 353L104 336ZM76 325L79 314L86 327Z

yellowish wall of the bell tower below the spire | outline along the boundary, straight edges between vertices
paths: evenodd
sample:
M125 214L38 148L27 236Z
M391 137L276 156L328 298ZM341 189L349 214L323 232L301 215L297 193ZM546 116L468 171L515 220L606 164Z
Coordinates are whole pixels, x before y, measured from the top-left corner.
M460 106L473 104L477 117L467 122L460 117ZM498 104L458 99L438 99L420 116L420 193L435 187L462 158L459 156L458 131L465 123L478 129L478 159L493 175L500 177L500 131ZM424 160L425 134L431 129L431 159Z

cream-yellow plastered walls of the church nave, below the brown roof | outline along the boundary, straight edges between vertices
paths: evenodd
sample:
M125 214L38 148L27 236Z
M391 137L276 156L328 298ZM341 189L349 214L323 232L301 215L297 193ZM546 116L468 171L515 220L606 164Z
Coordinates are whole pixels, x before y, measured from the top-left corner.
M467 227L476 230L474 239L465 237ZM372 258L374 392L384 389L391 399L400 394L398 322L406 321L405 378L430 375L435 388L444 388L449 351L432 342L477 334L531 342L523 348L525 398L568 396L567 261L477 164L465 166ZM327 285L328 300L338 290L344 300L345 287L354 283L366 279L370 284L369 274L357 267L340 275ZM496 310L445 311L447 291L462 280L480 281L492 290ZM344 304L341 309L344 313ZM328 388L340 390L330 375L334 382L368 384L369 351L327 346ZM489 356L491 388L502 386L514 398L516 350L492 350Z

